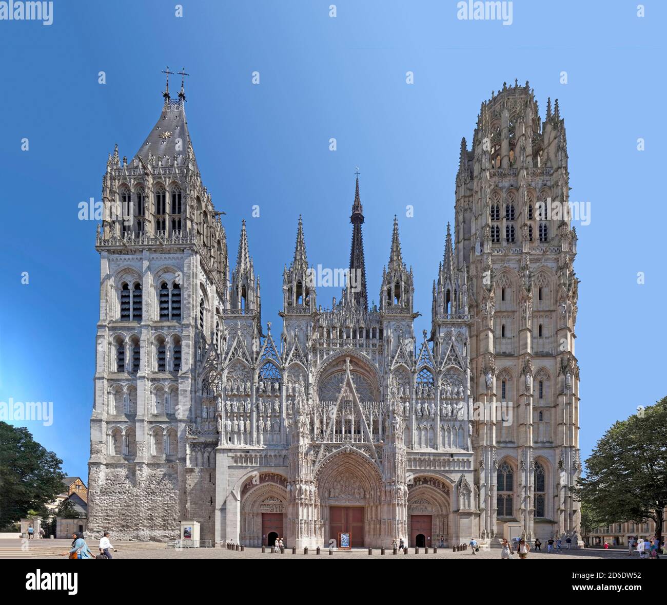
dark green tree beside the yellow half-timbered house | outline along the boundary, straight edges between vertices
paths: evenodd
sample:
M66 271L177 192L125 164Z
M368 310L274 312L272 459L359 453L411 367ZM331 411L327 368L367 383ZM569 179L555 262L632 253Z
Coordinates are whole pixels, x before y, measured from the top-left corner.
M45 503L63 491L62 464L28 429L0 422L0 527L25 517L29 510L47 514Z

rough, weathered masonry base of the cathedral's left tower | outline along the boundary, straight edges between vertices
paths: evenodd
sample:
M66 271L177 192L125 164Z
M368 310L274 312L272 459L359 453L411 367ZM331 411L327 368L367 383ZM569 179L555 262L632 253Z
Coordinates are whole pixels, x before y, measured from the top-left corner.
M91 464L88 532L117 540L163 542L179 537L177 464Z

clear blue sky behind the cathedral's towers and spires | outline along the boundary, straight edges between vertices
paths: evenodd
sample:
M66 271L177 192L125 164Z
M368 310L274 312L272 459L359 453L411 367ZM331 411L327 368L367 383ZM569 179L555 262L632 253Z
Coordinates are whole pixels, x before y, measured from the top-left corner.
M227 212L232 261L248 222L274 331L299 214L309 262L348 262L356 166L369 297L378 299L397 214L423 314L415 331L428 328L460 140L472 139L480 104L515 77L530 81L543 118L558 97L570 200L591 207L575 263L582 457L616 419L667 395L654 317L666 294L664 3L645 2L638 18L637 1L514 0L509 26L459 20L450 0L181 4L175 17L172 1L56 0L50 26L0 21L0 401L53 401L53 425L27 426L69 475L87 477L99 317L95 222L78 220L78 204L99 200L114 144L131 158L155 124L166 65L191 73L186 111L203 182ZM329 306L340 290L317 295Z

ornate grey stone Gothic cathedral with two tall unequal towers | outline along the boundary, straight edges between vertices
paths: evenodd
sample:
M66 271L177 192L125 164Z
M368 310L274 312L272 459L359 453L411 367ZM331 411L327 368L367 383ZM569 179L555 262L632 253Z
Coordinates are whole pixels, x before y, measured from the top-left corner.
M472 149L461 142L454 232L438 266L426 260L430 333L416 335L396 218L369 305L358 176L339 300L318 305L295 216L282 329L263 325L251 229L230 272L182 82L163 96L102 181L89 531L169 540L195 520L202 540L246 546L342 533L375 548L578 544L577 236L558 102L542 120L515 82L482 104Z

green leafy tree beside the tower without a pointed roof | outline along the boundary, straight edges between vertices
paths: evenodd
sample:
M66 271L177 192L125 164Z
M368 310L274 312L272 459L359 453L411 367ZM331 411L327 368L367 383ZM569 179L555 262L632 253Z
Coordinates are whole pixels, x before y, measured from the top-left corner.
M653 520L662 540L667 506L667 397L618 421L586 460L576 497L594 526Z

